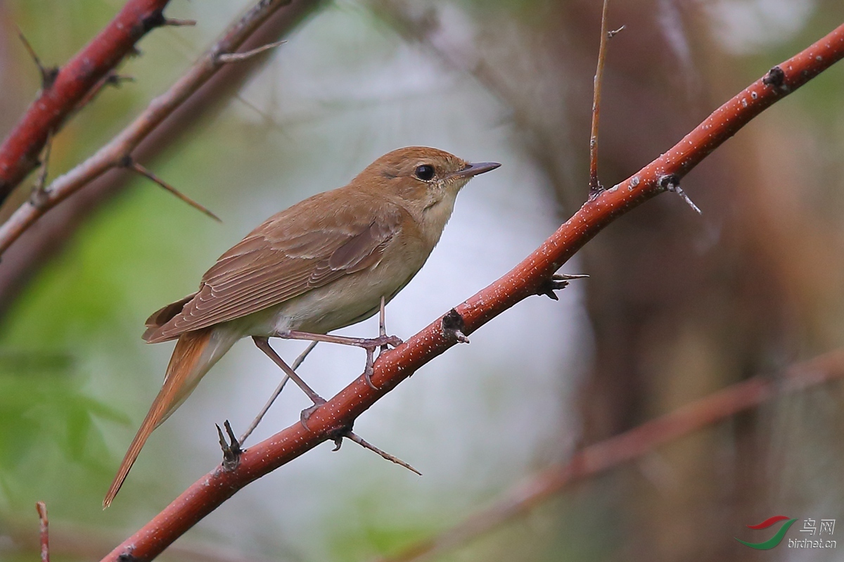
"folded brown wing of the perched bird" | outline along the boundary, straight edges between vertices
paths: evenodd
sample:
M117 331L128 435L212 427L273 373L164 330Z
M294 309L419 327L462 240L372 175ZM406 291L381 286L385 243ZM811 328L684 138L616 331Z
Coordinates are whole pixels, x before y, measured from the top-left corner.
M380 262L403 209L363 196L333 201L311 197L268 219L219 257L195 295L150 316L143 338L162 342L240 318Z

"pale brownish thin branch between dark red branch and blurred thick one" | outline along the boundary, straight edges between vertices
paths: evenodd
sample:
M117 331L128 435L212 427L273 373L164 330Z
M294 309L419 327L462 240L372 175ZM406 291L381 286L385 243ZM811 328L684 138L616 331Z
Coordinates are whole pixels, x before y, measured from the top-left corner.
M316 5L320 0L307 0L299 5ZM291 3L291 0L259 0L246 14L231 24L224 35L208 51L194 62L163 95L152 100L146 110L139 115L115 138L100 148L96 154L77 165L73 170L59 176L47 188L46 197L40 205L22 204L9 219L0 226L0 253L17 240L30 228L41 215L61 203L67 197L78 192L91 181L102 176L112 168L120 167L139 143L160 126L176 109L185 103L197 89L208 82L214 74L225 66L219 56L234 52L246 41L257 28L279 8Z

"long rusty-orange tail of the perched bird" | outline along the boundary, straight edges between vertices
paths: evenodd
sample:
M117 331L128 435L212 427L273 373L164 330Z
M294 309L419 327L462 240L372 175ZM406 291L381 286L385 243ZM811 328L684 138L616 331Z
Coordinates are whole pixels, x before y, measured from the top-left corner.
M237 338L229 338L219 332L222 332L219 328L207 327L179 336L167 365L164 385L120 463L120 469L103 500L103 509L111 505L149 435L181 406L205 373L235 343Z

